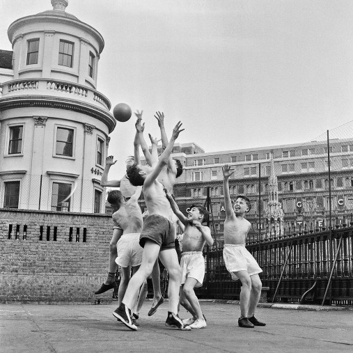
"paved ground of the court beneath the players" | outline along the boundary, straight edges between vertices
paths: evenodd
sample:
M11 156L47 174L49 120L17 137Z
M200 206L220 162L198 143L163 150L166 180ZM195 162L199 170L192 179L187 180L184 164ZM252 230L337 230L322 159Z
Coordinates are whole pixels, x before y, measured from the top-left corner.
M353 352L352 310L258 308L266 327L237 326L239 305L202 301L207 327L190 331L164 325L168 303L139 331L117 322L109 305L0 305L0 352ZM305 308L301 308L305 309ZM317 307L317 309L321 309ZM182 309L180 317L187 317Z

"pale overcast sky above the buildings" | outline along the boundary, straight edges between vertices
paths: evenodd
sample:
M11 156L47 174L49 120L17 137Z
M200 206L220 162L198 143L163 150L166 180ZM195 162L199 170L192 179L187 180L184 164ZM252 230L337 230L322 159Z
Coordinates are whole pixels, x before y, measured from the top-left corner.
M143 110L146 133L178 120L178 142L206 152L345 136L353 120L352 0L69 0L66 12L99 31L105 46L97 90L113 107ZM8 26L51 10L50 0L1 0ZM112 111L111 109L111 111ZM134 116L117 123L111 173L133 152Z

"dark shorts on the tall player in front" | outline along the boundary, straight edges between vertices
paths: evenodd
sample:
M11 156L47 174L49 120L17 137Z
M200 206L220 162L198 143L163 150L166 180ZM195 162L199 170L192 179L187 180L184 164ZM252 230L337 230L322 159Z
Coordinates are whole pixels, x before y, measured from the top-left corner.
M161 250L175 249L175 230L173 223L163 216L151 214L143 221L140 245L145 246L147 240L157 243Z

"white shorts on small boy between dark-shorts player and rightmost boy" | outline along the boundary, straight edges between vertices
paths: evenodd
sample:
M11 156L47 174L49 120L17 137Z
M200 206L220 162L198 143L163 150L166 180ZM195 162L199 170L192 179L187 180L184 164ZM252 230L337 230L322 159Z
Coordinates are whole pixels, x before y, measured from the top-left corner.
M187 278L191 277L197 281L196 288L202 287L203 277L205 277L205 259L202 251L182 253L180 267L182 268L182 285L187 281Z

